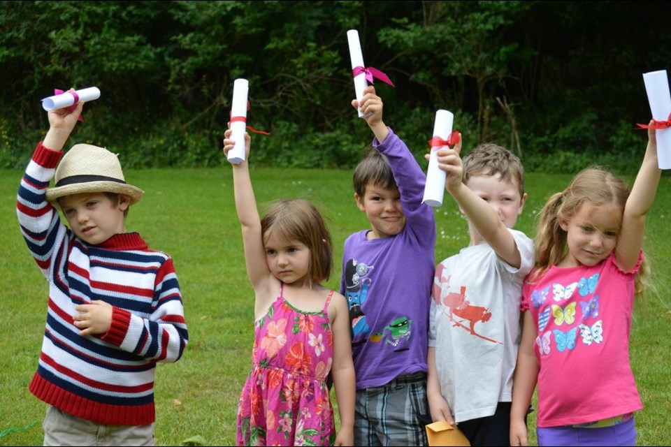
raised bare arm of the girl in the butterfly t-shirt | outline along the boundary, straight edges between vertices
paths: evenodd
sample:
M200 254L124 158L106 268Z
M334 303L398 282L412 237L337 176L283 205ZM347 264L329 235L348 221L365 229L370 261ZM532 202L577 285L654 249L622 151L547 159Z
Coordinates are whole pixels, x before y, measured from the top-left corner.
M624 207L622 226L615 247L617 264L625 272L633 270L638 262L643 245L645 220L655 200L661 173L657 161L655 130L648 129L648 146Z

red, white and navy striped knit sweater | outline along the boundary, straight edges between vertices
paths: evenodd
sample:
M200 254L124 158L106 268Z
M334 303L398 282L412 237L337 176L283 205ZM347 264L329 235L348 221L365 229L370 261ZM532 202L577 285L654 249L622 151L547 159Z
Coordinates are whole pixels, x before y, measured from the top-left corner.
M95 246L75 237L45 198L62 155L38 144L17 195L21 232L49 283L30 391L96 423L153 423L156 362L177 361L188 341L173 261L137 233ZM113 306L112 323L105 334L82 337L75 307L92 300Z

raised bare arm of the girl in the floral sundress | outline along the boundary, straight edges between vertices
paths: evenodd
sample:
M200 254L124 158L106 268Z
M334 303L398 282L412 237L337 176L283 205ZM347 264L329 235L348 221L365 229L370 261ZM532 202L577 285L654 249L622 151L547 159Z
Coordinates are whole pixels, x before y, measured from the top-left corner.
M224 133L224 154L233 149L235 141L230 138L231 129L228 129ZM250 134L245 133L245 152L247 155L245 161L231 166L233 166L236 211L243 230L247 276L250 278L254 291L259 295L259 291L264 288L270 276L270 270L266 263L266 251L261 237L261 217L259 217L259 210L257 209L257 200L254 198L254 189L252 189L252 179L250 178L250 168L247 161L250 157L250 143Z

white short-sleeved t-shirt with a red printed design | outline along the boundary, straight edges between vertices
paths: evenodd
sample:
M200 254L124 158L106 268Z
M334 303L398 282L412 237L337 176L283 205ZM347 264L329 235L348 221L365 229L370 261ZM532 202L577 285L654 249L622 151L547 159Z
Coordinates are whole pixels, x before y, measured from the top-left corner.
M535 258L533 241L521 231L510 233L520 268L489 244L466 247L436 268L428 346L435 347L442 395L456 423L492 416L498 402L512 401L521 287Z

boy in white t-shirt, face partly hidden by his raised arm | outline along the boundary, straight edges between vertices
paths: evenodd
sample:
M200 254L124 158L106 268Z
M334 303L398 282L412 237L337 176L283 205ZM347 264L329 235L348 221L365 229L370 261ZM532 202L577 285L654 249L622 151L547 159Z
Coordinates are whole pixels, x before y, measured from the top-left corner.
M491 143L462 163L459 137L437 154L470 243L436 268L427 395L433 420L459 424L472 446L508 445L521 286L534 264L533 241L512 229L527 197L524 168Z

